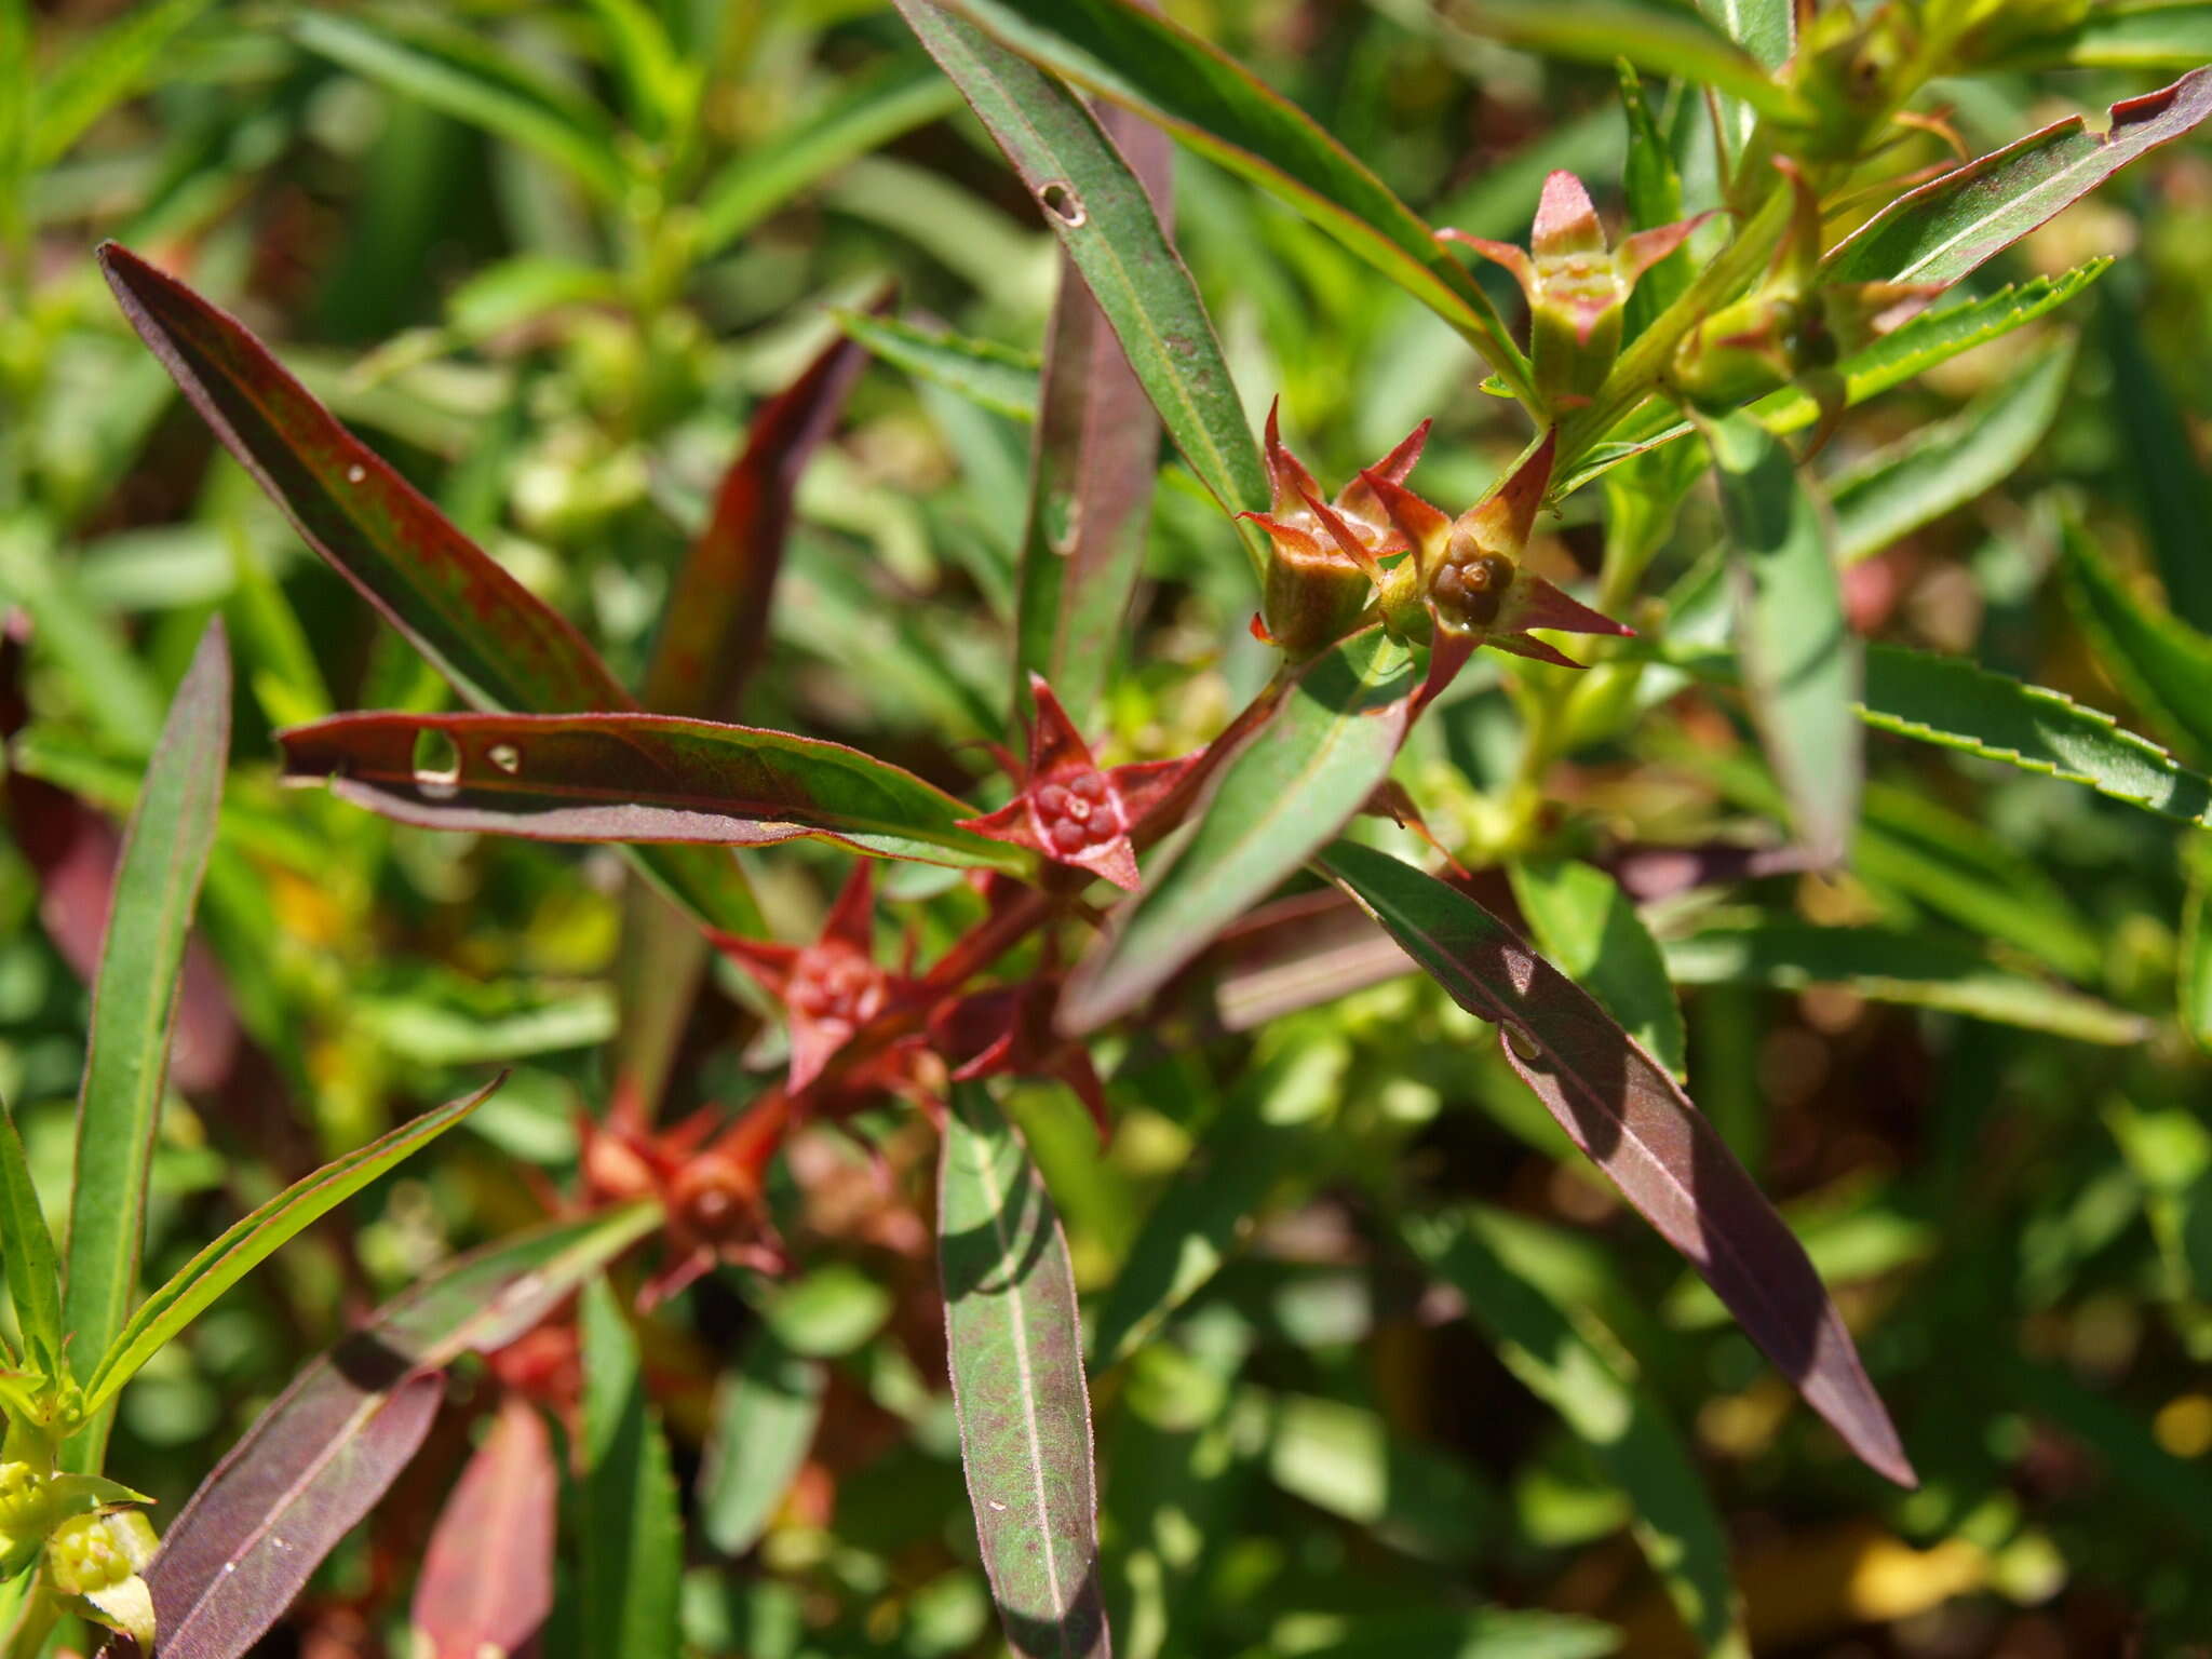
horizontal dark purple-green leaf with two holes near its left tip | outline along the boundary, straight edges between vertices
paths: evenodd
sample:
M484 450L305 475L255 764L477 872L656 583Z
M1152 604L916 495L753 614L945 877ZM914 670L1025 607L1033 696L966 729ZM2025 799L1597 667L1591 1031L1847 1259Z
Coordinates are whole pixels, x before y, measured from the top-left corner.
M420 765L418 743L447 750ZM285 781L429 830L533 841L768 847L816 836L880 858L1018 872L973 810L843 743L672 714L338 714L279 732Z

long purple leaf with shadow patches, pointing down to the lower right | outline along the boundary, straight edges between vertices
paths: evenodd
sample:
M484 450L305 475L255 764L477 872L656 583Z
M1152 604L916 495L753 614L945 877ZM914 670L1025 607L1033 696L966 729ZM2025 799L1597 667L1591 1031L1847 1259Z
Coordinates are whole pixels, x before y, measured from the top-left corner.
M1728 1303L1871 1469L1911 1464L1803 1245L1681 1086L1597 1002L1467 894L1347 841L1318 860L1453 1002L1495 1020L1559 1128Z

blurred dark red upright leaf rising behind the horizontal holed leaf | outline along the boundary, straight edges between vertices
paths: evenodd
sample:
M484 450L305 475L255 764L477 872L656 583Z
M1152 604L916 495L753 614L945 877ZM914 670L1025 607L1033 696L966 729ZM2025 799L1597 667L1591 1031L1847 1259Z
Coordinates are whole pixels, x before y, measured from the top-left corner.
M872 310L885 310L887 299ZM867 352L838 336L754 411L745 447L721 478L714 513L668 591L666 622L646 672L646 708L737 717L745 679L768 646L792 491L865 365Z

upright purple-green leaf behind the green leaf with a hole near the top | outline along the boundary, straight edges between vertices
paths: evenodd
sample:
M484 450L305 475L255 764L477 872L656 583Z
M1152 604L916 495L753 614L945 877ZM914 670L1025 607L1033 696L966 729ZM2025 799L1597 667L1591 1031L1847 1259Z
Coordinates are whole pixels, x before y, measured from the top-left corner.
M1128 111L1108 111L1099 124L1128 157L1166 237L1175 204L1168 137ZM1015 714L1033 717L1029 677L1035 672L1084 726L1115 664L1144 573L1159 418L1066 250L1037 414L1015 586ZM1241 414L1237 420L1241 425Z

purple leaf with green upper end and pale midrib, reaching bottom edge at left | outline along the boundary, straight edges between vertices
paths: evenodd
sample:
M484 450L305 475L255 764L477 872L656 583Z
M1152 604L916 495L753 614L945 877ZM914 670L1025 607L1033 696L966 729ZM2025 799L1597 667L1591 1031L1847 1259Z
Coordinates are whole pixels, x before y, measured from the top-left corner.
M657 1221L633 1206L502 1239L307 1365L166 1528L146 1571L164 1659L252 1648L414 1458L442 1367L522 1336Z

